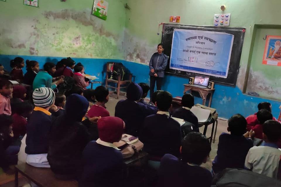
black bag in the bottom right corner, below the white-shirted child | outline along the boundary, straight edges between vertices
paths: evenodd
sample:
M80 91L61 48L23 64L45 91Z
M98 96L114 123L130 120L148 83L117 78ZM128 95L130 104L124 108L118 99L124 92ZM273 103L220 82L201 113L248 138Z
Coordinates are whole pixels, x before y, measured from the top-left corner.
M211 187L280 187L281 181L246 169L227 168L216 174Z

